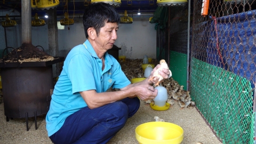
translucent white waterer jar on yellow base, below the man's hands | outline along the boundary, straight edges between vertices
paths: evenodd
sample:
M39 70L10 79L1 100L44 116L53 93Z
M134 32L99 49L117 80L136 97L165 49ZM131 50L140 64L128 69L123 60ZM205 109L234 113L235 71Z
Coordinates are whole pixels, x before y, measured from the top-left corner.
M155 89L158 90L156 98L154 99L155 105L158 107L165 106L168 99L167 90L164 86L157 86Z

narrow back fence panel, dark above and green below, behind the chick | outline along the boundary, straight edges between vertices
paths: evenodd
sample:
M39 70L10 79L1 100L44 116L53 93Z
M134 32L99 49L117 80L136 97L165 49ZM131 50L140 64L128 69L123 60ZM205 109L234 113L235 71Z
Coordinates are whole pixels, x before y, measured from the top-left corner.
M188 5L172 6L169 15L170 69L187 90Z

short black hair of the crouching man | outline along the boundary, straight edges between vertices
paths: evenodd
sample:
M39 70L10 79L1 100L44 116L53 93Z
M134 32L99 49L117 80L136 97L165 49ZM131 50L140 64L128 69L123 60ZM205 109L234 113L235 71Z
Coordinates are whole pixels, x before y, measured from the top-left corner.
M107 3L92 3L86 7L83 15L85 37L88 38L87 29L94 28L99 36L100 28L105 22L120 23L120 16L117 10Z

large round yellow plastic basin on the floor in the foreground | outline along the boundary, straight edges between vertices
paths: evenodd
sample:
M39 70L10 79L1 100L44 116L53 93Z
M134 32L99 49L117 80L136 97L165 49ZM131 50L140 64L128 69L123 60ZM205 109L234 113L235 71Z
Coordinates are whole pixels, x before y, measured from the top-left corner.
M183 129L167 122L149 122L136 127L135 136L139 143L179 144L183 140Z

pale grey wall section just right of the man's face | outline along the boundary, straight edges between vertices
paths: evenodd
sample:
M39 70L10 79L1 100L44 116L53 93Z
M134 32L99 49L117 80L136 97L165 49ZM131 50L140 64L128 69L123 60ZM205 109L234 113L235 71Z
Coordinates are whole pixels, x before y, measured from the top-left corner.
M143 59L146 54L156 58L155 24L148 18L133 19L132 24L120 24L115 45L121 47L119 55L130 59Z

